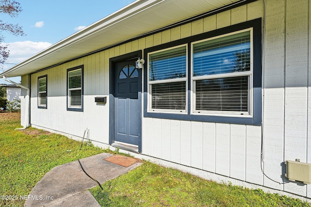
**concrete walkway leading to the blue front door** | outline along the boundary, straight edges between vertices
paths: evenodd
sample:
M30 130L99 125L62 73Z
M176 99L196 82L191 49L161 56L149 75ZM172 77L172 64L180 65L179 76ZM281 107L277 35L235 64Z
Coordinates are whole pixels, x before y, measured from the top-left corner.
M103 184L138 167L135 163L129 167L105 161L111 154L102 153L80 159L86 173ZM98 184L89 178L78 161L54 167L35 185L28 195L24 207L100 207L88 191Z

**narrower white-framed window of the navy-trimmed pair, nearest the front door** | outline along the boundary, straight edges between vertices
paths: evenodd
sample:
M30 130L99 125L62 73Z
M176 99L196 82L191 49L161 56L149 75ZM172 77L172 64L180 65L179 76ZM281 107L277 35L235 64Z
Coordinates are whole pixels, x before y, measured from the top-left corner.
M186 112L187 45L148 53L149 111Z

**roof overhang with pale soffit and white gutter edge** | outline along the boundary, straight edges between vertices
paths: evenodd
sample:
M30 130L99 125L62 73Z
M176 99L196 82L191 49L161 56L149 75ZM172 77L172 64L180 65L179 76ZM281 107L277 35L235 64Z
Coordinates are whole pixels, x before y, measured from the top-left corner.
M136 0L2 72L0 78L48 68L236 1L241 0Z

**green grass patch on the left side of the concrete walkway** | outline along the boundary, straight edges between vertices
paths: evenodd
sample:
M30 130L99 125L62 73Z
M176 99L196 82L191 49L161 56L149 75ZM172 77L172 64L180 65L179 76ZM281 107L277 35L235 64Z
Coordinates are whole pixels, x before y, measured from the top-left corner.
M0 195L28 195L53 167L104 150L35 128L21 127L19 113L0 113ZM20 207L24 200L2 200L0 206Z

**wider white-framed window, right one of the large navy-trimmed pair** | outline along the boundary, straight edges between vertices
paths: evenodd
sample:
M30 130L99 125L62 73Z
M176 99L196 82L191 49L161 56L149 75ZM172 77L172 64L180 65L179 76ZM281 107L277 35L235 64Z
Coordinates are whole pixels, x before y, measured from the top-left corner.
M192 43L194 113L251 114L251 33Z

